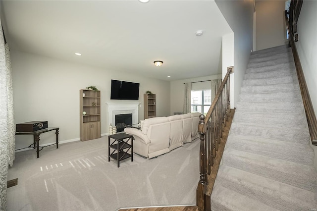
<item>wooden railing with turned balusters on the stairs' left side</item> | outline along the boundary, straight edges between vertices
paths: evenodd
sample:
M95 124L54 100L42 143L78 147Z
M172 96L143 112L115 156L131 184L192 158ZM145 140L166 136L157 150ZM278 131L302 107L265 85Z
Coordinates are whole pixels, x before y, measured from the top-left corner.
M209 187L208 175L211 175L212 169L218 171L218 166L214 159L222 156L224 146L221 145L222 152L218 152L218 146L222 137L222 132L230 116L230 74L233 73L233 67L228 67L228 71L222 80L222 83L212 101L210 109L206 116L199 116L198 132L200 134L200 152L199 152L199 183L196 190L196 205L200 211L211 210L211 191ZM217 165L219 163L217 162ZM215 172L216 174L216 172ZM215 177L214 177L215 179Z

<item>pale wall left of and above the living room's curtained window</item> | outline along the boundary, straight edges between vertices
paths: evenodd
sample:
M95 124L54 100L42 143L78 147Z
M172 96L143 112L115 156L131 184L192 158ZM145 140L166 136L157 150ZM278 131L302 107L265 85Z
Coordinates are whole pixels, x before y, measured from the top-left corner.
M196 82L196 81L206 81L221 78L220 75L210 75L206 77L190 78L185 80L177 80L170 82L170 115L174 112L183 112L184 106L184 83ZM204 85L207 84L204 82ZM209 83L211 87L211 82ZM195 86L197 84L195 83ZM209 88L210 88L209 87Z

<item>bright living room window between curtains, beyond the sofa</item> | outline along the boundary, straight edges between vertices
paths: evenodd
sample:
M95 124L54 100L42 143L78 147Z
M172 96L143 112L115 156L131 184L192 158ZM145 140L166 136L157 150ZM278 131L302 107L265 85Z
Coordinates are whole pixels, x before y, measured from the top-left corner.
M192 90L191 112L207 114L211 106L211 89Z

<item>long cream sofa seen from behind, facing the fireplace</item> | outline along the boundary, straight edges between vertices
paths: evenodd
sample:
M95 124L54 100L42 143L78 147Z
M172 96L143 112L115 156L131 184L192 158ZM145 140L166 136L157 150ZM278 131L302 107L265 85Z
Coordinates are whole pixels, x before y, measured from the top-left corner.
M154 158L181 147L199 137L200 113L154 117L141 121L141 129L127 127L124 132L134 137L133 152Z

